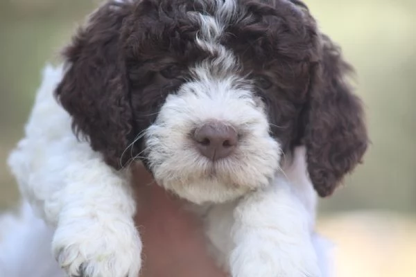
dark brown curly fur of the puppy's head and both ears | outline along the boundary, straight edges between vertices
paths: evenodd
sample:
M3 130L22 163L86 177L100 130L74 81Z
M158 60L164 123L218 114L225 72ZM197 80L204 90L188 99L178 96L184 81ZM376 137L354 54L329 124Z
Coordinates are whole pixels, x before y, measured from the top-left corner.
M315 190L330 195L367 148L363 107L345 80L349 65L302 2L226 2L234 3L234 14L224 13L229 24L216 42L254 82L272 136L285 152L306 145ZM110 1L73 37L55 93L76 133L110 166L143 156L142 134L168 94L191 80L189 66L216 55L197 46L201 26L194 18L215 6L213 0Z

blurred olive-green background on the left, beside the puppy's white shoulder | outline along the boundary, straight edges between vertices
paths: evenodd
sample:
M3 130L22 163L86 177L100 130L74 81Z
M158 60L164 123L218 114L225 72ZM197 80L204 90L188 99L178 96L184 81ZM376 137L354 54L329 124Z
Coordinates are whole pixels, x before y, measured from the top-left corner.
M59 62L60 49L93 7L84 0L0 1L0 210L18 199L6 158L23 134L42 67Z

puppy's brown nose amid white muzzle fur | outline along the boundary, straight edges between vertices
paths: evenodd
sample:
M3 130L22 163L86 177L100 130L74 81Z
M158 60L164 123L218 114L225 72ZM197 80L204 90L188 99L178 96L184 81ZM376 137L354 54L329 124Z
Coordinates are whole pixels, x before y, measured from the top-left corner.
M234 151L237 136L233 127L223 123L207 123L196 129L193 139L202 155L216 161L228 157Z

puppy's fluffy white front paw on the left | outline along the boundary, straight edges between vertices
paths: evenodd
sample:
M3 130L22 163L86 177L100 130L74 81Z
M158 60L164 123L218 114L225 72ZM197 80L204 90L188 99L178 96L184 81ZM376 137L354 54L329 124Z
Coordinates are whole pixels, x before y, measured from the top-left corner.
M139 276L141 240L132 220L60 224L52 248L70 277Z

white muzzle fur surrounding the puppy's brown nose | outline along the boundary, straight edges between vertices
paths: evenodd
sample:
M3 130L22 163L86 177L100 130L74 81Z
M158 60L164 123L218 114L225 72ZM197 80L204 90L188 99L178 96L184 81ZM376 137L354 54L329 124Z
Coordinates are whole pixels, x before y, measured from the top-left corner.
M198 80L170 95L146 131L150 168L159 184L189 201L225 202L268 186L279 167L279 143L269 135L266 113L257 107L252 89L241 80L209 78L196 69ZM212 82L211 80L215 80ZM236 89L236 85L239 86ZM232 112L229 112L232 111ZM236 151L214 165L193 147L188 134L195 126L218 121L248 134Z

